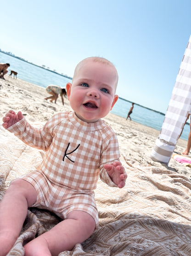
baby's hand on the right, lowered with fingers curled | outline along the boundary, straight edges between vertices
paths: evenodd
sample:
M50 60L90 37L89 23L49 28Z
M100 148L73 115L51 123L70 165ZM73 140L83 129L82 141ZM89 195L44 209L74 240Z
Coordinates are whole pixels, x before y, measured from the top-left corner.
M112 181L118 185L118 188L123 188L125 180L127 179L127 173L125 173L125 168L122 166L121 162L115 161L112 164L105 164L104 168Z

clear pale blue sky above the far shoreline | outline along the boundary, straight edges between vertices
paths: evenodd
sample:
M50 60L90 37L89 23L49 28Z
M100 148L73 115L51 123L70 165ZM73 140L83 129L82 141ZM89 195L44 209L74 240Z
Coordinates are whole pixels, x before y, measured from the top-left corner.
M8 0L0 48L73 76L90 56L117 68L117 94L163 113L191 35L191 0Z

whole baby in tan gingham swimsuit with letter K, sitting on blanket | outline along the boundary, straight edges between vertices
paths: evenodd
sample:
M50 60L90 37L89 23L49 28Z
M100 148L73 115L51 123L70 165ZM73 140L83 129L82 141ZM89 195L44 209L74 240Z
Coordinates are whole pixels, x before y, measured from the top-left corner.
M118 100L117 83L118 72L110 61L86 58L66 85L73 111L56 113L40 129L30 125L20 111L10 110L3 117L5 129L47 154L39 170L11 182L0 202L0 256L14 245L28 207L50 210L63 220L25 244L25 256L72 250L98 227L93 190L99 176L118 188L127 179L117 137L101 120Z

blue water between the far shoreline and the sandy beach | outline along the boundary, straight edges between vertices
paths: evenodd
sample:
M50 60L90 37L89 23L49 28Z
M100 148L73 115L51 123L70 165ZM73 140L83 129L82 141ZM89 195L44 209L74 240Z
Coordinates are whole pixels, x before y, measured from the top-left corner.
M33 65L2 52L0 52L0 62L10 63L8 74L10 74L10 70L17 71L18 78L30 83L37 84L44 88L46 88L46 86L49 84L57 84L61 87L64 87L66 83L71 82L70 78L64 77L60 74L57 74L56 72L46 70L42 67ZM111 113L126 118L130 107L131 102L119 98ZM137 123L152 127L160 131L163 124L164 115L135 104L133 113L131 114L131 119ZM129 120L127 121L130 122ZM186 124L181 138L187 140L189 131L190 126Z

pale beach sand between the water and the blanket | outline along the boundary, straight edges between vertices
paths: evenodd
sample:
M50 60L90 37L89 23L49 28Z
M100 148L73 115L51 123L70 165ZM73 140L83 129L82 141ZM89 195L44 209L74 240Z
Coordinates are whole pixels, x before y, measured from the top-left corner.
M0 79L0 143L4 143L6 137L11 136L10 132L1 125L3 116L10 109L16 112L22 111L28 122L33 125L45 124L55 113L71 110L67 98L64 98L64 106L62 106L60 96L56 104L51 103L44 100L48 96L44 88L7 75L5 78L6 80ZM109 113L104 120L116 132L121 155L126 159L138 161L144 167L155 166L169 169L191 179L191 168L176 162L173 158L169 161L168 167L166 164L151 160L149 155L159 131L112 113ZM181 154L186 143L187 141L179 139L174 152Z

